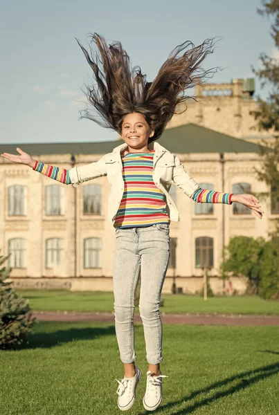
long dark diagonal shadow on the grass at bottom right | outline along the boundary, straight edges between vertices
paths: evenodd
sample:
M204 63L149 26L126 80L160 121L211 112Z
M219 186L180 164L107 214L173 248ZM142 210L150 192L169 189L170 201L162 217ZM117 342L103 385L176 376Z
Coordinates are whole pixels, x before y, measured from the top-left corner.
M232 394L235 394L235 392L238 392L240 390L246 389L246 387L249 387L250 385L253 385L254 383L259 382L262 379L269 378L269 376L273 376L279 374L279 362L273 363L273 365L269 366L263 366L259 367L258 369L242 372L240 374L237 374L235 376L231 376L230 378L226 378L223 380L219 380L219 382L215 382L212 385L209 385L208 387L204 387L203 389L198 389L197 391L193 391L191 394L184 396L180 400L177 400L176 402L170 402L166 405L162 405L157 411L157 414L160 414L165 409L174 409L177 405L183 405L183 409L178 410L177 412L172 412L172 415L184 415L184 414L192 414L196 411L196 409L204 407L205 405L209 405L210 403L215 402L219 398L224 398L225 396L229 396ZM245 379L245 377L249 377L248 379ZM230 385L232 382L235 383L237 381L236 385ZM226 389L224 389L226 387ZM218 388L222 388L224 390L218 391ZM212 392L214 389L216 389L213 396L210 396L208 398L203 398L203 394L206 394L208 392ZM190 400L193 398L196 398L197 396L200 396L199 402L195 402L190 404ZM190 404L190 405L189 405ZM150 414L150 412L142 412L139 415L147 415Z

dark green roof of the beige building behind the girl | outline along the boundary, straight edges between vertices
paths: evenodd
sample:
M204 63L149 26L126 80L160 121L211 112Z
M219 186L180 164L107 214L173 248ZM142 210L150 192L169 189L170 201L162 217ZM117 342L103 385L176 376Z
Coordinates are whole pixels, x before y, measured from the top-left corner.
M28 144L2 144L0 154L17 154L20 147L30 156L44 154L106 154L122 140L102 142L49 142ZM219 133L197 124L184 124L164 131L158 142L174 154L190 153L260 153L253 142Z

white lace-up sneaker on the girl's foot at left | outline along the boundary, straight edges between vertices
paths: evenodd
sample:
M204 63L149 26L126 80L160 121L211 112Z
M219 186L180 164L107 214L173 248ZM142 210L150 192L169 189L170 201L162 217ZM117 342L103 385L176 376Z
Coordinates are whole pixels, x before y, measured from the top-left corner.
M134 401L136 399L136 386L138 385L138 380L141 378L141 371L136 367L136 374L134 378L123 378L119 383L116 394L118 394L117 405L121 411L127 411L132 408Z

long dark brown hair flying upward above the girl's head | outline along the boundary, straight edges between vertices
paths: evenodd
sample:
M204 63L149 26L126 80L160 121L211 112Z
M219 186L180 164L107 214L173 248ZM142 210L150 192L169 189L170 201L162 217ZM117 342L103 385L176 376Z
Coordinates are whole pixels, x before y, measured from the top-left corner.
M142 113L155 131L150 141L161 136L181 102L195 99L186 90L202 84L213 73L212 68L204 71L201 62L213 53L214 39L206 39L196 47L187 41L174 48L153 82L147 82L139 66L131 67L120 42L108 45L94 33L89 43L90 55L78 39L77 42L93 70L93 82L84 90L91 108L81 111L82 118L121 133L125 115Z

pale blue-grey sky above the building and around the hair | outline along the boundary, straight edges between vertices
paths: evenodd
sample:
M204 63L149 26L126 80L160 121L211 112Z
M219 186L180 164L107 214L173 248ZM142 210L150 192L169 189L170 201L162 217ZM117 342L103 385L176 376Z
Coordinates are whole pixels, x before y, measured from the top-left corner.
M75 37L89 33L120 41L153 80L170 51L191 40L219 37L204 68L219 66L211 82L253 77L260 53L278 57L271 22L260 0L12 0L0 15L0 143L98 142L117 134L80 120L91 69ZM265 98L256 81L255 95Z

